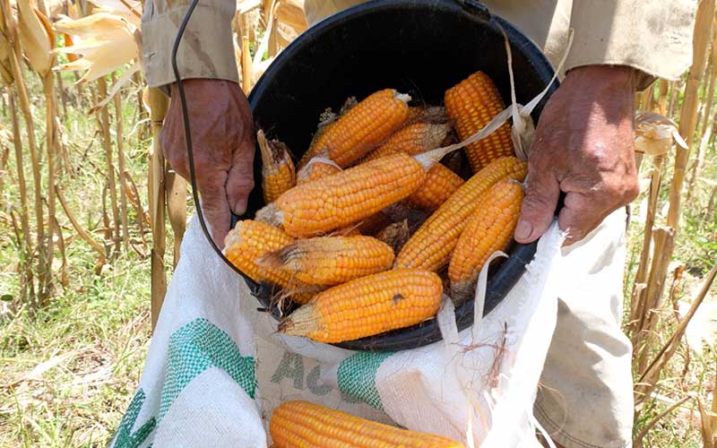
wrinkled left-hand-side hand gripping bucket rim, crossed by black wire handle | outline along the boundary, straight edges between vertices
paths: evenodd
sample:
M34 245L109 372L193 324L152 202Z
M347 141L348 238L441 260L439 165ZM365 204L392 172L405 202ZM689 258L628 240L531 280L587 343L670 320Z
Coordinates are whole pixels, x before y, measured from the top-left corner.
M235 82L194 79L183 82L192 131L196 183L202 210L217 246L224 246L230 211L243 214L254 188L254 125L249 103ZM177 173L189 179L185 127L177 85L172 84L160 142Z

